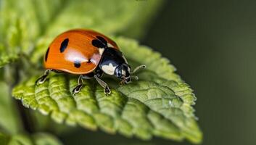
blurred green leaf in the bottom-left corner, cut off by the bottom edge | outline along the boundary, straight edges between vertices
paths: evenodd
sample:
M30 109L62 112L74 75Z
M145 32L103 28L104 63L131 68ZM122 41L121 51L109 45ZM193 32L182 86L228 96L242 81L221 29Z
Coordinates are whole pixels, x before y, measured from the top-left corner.
M62 143L54 136L47 133L35 133L31 136L27 134L16 134L9 136L0 133L1 145L61 145Z

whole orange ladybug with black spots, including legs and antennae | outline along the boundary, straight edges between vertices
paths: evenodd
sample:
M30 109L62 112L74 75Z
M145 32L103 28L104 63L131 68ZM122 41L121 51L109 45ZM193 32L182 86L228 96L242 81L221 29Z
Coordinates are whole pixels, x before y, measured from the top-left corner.
M49 72L67 72L79 75L73 95L83 87L83 79L90 78L95 78L108 95L111 91L101 79L103 74L114 75L123 85L131 83L131 74L146 66L140 65L131 71L131 66L114 41L94 30L75 29L60 34L51 42L44 55L44 67L46 71L36 80L36 85L44 83ZM137 76L135 78L138 79Z

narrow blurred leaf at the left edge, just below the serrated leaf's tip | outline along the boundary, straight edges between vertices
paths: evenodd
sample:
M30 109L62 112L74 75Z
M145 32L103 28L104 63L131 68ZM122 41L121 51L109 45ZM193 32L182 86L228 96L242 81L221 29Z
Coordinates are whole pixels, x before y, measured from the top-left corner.
M22 130L20 118L17 115L15 104L12 102L12 97L9 95L9 87L7 83L0 81L0 128L7 133L18 133Z

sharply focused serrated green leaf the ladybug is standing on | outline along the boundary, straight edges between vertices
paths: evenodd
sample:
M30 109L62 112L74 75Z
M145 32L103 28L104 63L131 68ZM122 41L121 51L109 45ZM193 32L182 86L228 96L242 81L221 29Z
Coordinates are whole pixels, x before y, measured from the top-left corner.
M112 88L110 96L104 95L104 89L95 80L85 80L80 93L72 96L70 92L78 77L51 73L40 86L35 86L38 75L16 86L13 96L25 107L51 115L57 123L100 128L107 133L119 132L146 140L159 136L199 143L202 133L191 107L196 97L175 73L175 67L136 41L122 37L114 40L133 68L147 66L137 74L140 80L118 86L117 80L104 78Z

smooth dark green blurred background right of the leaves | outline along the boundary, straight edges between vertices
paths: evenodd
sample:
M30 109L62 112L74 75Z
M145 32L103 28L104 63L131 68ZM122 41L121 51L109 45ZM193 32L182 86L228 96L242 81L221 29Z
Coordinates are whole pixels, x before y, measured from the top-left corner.
M197 96L203 144L256 144L256 1L168 1L143 43Z

